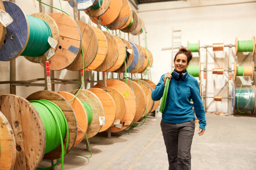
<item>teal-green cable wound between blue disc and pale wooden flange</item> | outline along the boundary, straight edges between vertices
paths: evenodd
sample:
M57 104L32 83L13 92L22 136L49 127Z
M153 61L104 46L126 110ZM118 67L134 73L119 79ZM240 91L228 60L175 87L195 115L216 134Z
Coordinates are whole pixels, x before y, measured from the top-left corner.
M50 26L42 19L27 15L29 23L29 39L22 56L38 57L49 48L48 37L52 37Z

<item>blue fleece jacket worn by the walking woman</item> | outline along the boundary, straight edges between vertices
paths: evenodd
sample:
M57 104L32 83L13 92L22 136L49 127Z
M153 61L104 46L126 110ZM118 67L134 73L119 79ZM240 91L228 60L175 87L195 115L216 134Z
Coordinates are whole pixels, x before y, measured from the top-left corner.
M165 75L165 74L164 74ZM153 90L151 98L154 101L160 100L164 93L164 75ZM190 100L193 100L193 103ZM205 110L200 97L200 88L197 80L187 74L184 80L171 79L166 97L166 104L162 114L162 120L169 123L183 123L195 120L195 114L199 121L199 128L205 129Z

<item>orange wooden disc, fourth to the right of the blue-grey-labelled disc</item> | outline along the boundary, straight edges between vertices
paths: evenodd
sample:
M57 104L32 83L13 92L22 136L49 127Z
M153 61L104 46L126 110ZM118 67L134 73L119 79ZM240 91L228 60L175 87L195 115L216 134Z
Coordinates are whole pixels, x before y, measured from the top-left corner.
M113 67L111 67L106 72L113 72L115 70L118 70L118 68L120 68L123 65L123 62L126 58L126 49L125 49L125 45L124 45L123 41L116 35L114 35L114 37L117 40L118 47L119 47L118 60L115 62L115 65L113 65Z

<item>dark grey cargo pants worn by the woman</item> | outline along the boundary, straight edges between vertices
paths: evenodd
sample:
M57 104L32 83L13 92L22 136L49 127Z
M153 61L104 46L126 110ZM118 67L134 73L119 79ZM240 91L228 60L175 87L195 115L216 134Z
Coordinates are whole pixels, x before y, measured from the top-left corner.
M195 120L184 123L161 121L161 129L169 160L169 170L191 169L191 144L195 133Z

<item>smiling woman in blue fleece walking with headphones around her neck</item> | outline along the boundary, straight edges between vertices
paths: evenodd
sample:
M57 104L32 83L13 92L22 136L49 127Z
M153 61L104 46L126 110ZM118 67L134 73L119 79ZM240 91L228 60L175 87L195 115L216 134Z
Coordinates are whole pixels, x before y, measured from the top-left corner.
M195 114L199 121L198 134L205 132L205 110L200 97L197 80L187 73L192 59L190 50L182 47L174 57L175 69L161 76L152 92L153 100L163 96L166 79L170 79L166 104L161 120L161 130L169 160L169 170L191 169L191 144L195 133ZM190 100L193 100L193 104Z

